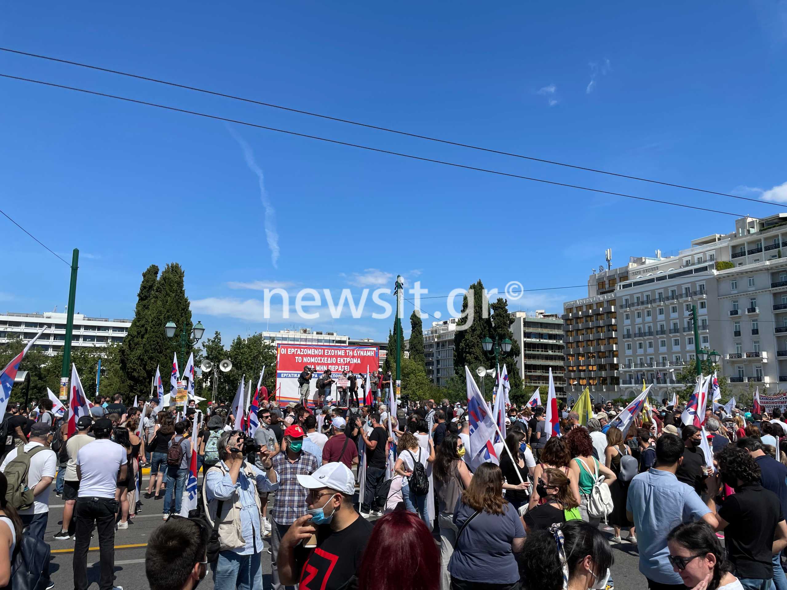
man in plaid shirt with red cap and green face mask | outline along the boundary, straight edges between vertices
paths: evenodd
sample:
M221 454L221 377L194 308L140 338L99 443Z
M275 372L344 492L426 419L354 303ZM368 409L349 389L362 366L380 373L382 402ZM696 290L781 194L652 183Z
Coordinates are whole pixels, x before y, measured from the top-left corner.
M303 450L305 433L301 426L287 426L282 441L282 452L273 458L273 469L279 478L279 490L273 498L271 510L272 531L271 550L273 559L272 586L273 590L282 590L279 583L279 571L276 559L279 557L279 544L290 525L306 514L308 508L306 493L308 492L297 481L298 475L311 475L320 466L315 455Z

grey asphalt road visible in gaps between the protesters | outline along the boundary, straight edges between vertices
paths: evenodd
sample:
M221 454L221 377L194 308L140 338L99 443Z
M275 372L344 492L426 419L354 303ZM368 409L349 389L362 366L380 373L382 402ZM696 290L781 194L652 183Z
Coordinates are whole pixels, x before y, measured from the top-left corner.
M200 478L201 481L201 478ZM147 485L147 476L143 479L143 488ZM55 588L70 590L74 587L72 560L74 557L73 540L54 540L52 537L60 531L60 522L63 514L63 500L50 495L50 516L46 526L46 542L52 548L52 561L50 573L55 582ZM149 588L145 573L145 548L150 533L161 525L161 510L164 500L145 500L142 498L142 511L133 520L129 521L128 529L115 532L115 584L124 590L146 590ZM604 530L604 525L602 525ZM605 531L611 537L611 529ZM613 546L615 565L612 566L612 578L618 590L641 590L646 588L645 577L637 570L637 545L627 543L626 533L623 533L623 543ZM262 554L263 589L271 588L271 555L268 554L268 541L264 540L265 551ZM94 550L93 550L94 549ZM98 564L98 533L94 533L91 541L91 551L87 554L87 579L91 582L90 588L98 589L99 564ZM212 590L213 582L211 572L205 576L200 584L200 590Z

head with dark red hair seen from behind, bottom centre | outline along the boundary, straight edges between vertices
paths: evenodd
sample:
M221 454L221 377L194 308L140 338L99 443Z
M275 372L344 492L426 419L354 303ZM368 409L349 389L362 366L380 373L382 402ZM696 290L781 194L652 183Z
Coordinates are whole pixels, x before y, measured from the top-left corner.
M375 522L358 568L358 588L438 590L440 553L418 514L393 511Z

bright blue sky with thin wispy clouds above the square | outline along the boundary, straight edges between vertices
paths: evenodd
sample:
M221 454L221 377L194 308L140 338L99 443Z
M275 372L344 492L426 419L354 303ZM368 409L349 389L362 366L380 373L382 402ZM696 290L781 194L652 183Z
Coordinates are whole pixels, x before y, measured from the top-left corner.
M6 3L2 46L550 160L787 202L787 2ZM765 216L709 197L0 54L0 72L345 142ZM262 317L263 286L443 295L584 285L590 267L733 228L694 212L0 79L2 208L70 260L77 311L131 317L178 261L194 319L382 337L390 319ZM264 193L260 190L260 175ZM748 188L746 188L748 187ZM0 307L65 306L68 267L0 218ZM274 264L275 263L275 264ZM256 289L254 288L256 287ZM527 293L546 308L583 288ZM387 298L390 301L390 297ZM279 300L275 300L279 301ZM324 304L324 301L323 301ZM427 312L447 315L445 301ZM405 311L409 315L411 304ZM431 319L425 319L428 325Z

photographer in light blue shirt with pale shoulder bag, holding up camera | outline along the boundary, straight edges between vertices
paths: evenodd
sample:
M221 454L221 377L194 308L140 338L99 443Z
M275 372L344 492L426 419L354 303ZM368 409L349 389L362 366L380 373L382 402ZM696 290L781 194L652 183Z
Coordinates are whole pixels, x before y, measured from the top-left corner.
M213 588L261 588L260 494L279 488L271 452L239 430L222 434L218 448L219 463L205 474L202 491L208 525L216 528L220 543L218 557L211 563ZM267 474L246 461L249 452L259 457Z

